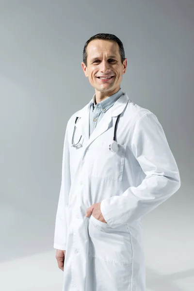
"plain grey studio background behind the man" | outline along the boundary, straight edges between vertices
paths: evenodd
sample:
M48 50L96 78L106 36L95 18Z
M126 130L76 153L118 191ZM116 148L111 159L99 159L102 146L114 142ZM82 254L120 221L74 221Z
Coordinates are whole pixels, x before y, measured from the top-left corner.
M142 219L149 291L194 288L194 1L0 1L0 290L60 291L53 249L68 118L94 95L99 32L124 44L121 89L155 113L181 187Z

